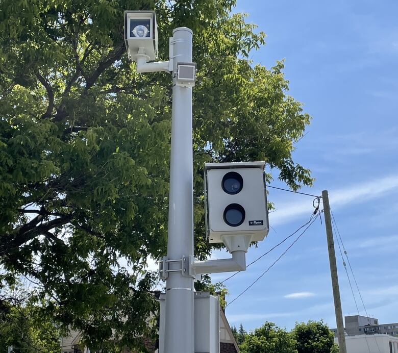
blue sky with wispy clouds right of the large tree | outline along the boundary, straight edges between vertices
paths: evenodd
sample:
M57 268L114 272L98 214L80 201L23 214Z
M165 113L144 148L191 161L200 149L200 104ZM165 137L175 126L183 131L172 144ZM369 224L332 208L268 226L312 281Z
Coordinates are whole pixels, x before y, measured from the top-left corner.
M235 12L247 13L267 34L265 47L252 53L254 62L269 68L286 59L289 94L313 117L294 153L316 178L303 191L329 190L368 314L381 323L398 322L398 2L238 0ZM269 198L277 208L272 229L249 249L247 262L305 223L313 210L308 196L269 189ZM227 281L227 300L286 247ZM343 315L355 315L340 256L337 261ZM213 274L212 280L227 277ZM357 302L364 314L358 295ZM232 325L242 322L246 330L266 320L291 329L296 321L324 319L335 327L324 224L316 221L226 313Z

